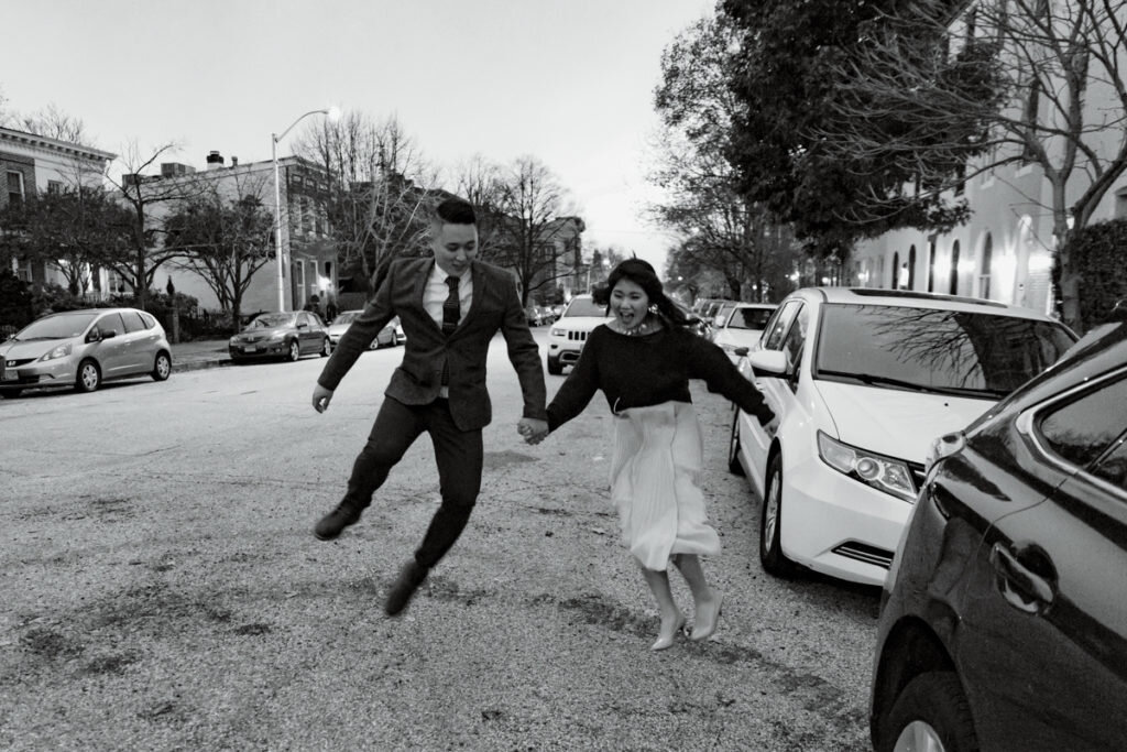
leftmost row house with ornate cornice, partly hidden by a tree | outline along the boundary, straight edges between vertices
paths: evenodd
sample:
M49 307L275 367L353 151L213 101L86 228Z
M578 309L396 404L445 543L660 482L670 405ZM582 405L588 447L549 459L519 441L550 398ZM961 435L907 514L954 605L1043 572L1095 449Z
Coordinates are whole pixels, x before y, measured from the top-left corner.
M0 127L0 207L24 202L43 193L61 192L77 186L100 186L109 163L117 154L57 139ZM59 284L66 281L57 266L34 260L0 247L0 265L11 268L19 278L34 285ZM103 272L92 276L96 290L106 289Z

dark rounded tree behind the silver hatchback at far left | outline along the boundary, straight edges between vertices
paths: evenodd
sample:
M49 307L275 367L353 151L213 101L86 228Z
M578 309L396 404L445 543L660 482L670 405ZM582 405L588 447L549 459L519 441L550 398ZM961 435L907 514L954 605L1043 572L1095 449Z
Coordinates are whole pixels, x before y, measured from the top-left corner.
M81 184L0 210L0 228L18 253L55 266L72 295L90 289L94 269L127 258L130 220L105 188Z

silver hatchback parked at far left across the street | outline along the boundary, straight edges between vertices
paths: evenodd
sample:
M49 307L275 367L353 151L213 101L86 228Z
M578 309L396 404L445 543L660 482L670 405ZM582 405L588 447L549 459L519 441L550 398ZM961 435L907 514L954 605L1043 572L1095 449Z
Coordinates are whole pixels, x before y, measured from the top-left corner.
M152 315L135 308L52 313L0 343L0 395L73 387L94 391L104 381L172 372L171 347Z

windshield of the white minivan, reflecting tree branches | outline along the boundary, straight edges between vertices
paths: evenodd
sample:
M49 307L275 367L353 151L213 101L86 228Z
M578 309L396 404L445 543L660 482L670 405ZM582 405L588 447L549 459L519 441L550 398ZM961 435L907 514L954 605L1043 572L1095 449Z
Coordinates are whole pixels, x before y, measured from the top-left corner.
M1058 324L897 306L826 304L817 378L1003 397L1072 346Z

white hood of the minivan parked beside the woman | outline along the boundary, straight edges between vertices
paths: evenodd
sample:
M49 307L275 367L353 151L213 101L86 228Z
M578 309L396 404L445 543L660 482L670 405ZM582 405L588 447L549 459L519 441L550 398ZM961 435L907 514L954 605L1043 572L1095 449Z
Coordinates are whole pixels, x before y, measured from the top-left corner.
M814 383L833 417L837 439L859 449L920 463L935 439L961 431L996 401L836 381Z

